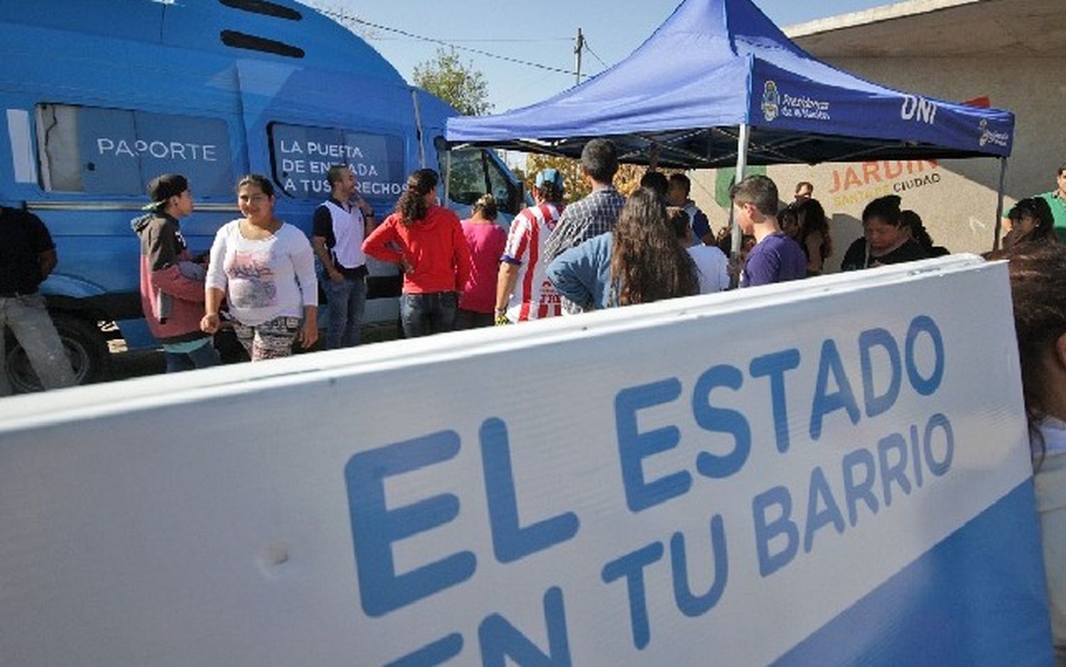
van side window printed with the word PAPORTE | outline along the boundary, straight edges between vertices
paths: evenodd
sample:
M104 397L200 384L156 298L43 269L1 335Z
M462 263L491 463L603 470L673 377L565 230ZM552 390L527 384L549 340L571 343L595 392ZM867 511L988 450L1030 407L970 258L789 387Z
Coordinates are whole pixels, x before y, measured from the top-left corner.
M233 188L221 118L74 104L37 104L41 185L48 192L144 196L160 174L189 178L198 196Z

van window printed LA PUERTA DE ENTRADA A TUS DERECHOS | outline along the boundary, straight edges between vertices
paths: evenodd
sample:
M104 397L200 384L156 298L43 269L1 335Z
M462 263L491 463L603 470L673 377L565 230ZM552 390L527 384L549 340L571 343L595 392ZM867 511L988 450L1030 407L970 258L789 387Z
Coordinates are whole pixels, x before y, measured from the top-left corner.
M364 197L394 199L403 192L407 173L400 136L281 123L268 131L274 181L293 197L328 195L326 174L334 164L351 167Z

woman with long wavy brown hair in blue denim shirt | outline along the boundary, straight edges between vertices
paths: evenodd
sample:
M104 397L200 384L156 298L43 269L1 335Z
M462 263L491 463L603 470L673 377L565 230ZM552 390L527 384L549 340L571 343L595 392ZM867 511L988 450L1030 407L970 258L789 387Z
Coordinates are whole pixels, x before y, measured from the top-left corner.
M585 310L698 294L697 276L662 198L647 188L626 200L613 232L566 250L548 265L555 290Z

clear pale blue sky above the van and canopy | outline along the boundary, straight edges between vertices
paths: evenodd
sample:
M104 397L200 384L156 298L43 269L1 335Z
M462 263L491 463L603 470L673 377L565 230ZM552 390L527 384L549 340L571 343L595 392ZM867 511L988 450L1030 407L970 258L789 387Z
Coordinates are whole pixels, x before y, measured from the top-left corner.
M595 75L624 60L677 7L679 0L303 0L321 9L457 46L572 70L578 28L588 50L582 75ZM815 18L890 4L889 0L755 0L785 28ZM374 46L408 81L415 66L430 60L439 45L387 30L368 29ZM575 75L508 63L459 51L482 71L494 112L524 107L564 91Z

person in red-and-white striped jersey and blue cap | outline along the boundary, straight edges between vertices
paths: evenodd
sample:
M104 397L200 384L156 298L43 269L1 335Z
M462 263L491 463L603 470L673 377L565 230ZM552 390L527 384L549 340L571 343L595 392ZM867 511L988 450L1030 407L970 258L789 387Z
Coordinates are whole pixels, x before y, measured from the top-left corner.
M542 169L533 185L536 206L523 209L511 223L500 258L496 288L496 323L511 324L562 313L555 288L548 281L544 244L563 214L563 175Z

